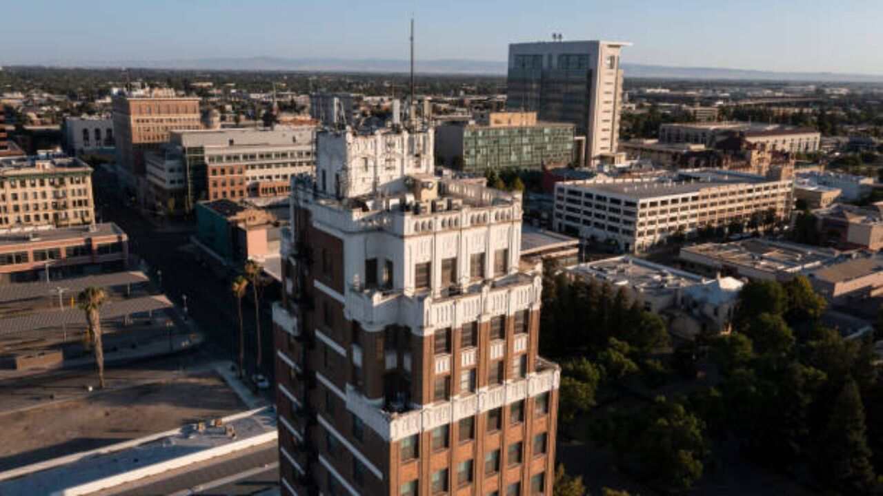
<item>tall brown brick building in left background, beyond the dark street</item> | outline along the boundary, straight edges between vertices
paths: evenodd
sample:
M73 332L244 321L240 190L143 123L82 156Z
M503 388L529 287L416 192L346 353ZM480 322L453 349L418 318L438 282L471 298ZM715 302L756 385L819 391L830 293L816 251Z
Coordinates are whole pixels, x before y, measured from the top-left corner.
M200 99L178 97L173 90L153 90L145 97L113 99L113 132L118 166L144 176L144 153L169 141L173 130L202 129Z

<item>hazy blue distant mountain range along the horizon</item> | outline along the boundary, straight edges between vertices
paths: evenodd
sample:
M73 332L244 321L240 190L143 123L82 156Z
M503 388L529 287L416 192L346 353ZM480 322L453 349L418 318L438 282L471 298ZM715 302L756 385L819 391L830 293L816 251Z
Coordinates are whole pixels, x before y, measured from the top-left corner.
M333 71L407 72L407 60L385 58L285 58L275 56L217 57L179 60L128 60L57 62L62 67L139 67L145 69L190 69L201 71ZM416 71L424 74L503 75L506 63L468 59L418 60ZM672 67L668 65L623 64L626 77L658 79L750 79L768 81L866 82L883 83L883 74L834 72L779 72L716 67Z

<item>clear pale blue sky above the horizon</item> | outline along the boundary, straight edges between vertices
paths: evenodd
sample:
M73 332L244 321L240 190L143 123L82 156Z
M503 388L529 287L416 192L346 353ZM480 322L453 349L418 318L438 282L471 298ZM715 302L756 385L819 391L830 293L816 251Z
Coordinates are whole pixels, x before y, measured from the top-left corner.
M883 73L880 0L4 0L0 64L218 56L506 58L513 41L631 41L626 63Z

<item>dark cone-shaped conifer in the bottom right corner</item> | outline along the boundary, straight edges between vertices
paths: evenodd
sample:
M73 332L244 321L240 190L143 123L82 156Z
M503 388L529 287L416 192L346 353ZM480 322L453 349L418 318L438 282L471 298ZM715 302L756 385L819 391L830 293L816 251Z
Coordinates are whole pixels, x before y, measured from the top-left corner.
M848 380L834 400L816 459L819 477L845 494L868 494L876 484L866 431L862 397Z

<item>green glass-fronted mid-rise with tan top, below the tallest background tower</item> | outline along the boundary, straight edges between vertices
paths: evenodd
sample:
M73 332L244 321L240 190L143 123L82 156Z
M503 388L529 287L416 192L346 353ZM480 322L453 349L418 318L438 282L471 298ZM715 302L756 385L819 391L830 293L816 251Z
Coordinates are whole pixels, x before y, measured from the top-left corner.
M492 112L487 124L449 123L435 128L435 156L464 172L568 165L573 124L537 122L536 112Z

